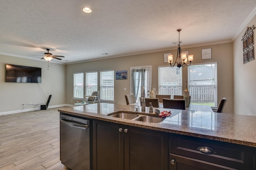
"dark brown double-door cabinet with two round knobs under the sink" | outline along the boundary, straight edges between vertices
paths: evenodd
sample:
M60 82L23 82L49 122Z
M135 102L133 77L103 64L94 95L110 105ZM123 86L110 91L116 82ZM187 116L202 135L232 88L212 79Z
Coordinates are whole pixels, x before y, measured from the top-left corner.
M94 170L167 170L168 133L94 120Z

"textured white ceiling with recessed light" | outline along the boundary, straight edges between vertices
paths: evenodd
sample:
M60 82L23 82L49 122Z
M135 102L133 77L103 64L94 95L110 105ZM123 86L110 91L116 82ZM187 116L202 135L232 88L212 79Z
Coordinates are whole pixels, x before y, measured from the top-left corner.
M1 0L0 54L40 60L50 48L67 64L162 51L178 28L183 48L232 42L255 11L256 0Z

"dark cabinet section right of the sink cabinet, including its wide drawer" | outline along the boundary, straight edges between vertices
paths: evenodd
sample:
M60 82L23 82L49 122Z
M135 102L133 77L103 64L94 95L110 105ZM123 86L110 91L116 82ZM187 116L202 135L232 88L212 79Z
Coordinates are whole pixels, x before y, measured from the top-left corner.
M170 170L254 170L255 148L170 135Z

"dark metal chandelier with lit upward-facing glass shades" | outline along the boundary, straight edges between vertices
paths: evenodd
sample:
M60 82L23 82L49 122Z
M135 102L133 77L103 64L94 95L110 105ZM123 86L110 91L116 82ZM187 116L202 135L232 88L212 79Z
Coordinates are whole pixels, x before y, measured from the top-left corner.
M175 65L180 68L181 66L184 67L185 65L186 66L190 66L191 64L191 61L193 61L193 56L194 55L188 55L187 57L187 53L181 53L181 48L180 48L180 31L181 29L177 29L177 31L179 32L179 47L178 47L178 53L177 53L177 58L175 60L175 63L172 65L172 62L173 62L173 58L172 58L172 55L168 55L168 62L170 63L170 66L171 67L174 67ZM189 61L190 63L189 64L186 64L187 61Z

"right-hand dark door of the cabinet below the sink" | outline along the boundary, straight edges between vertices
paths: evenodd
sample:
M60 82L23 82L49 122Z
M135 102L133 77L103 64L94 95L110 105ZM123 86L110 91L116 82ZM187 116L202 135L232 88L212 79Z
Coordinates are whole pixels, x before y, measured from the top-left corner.
M168 134L126 126L125 170L167 170Z

